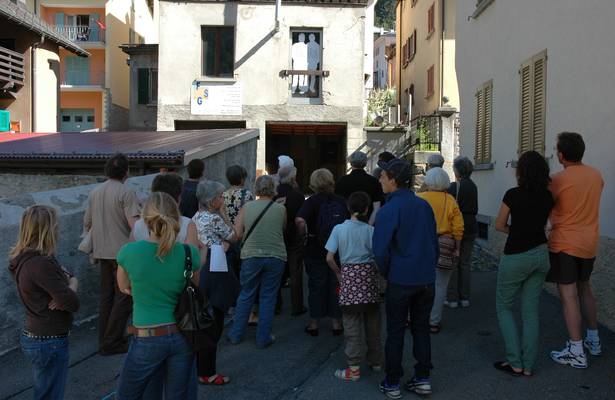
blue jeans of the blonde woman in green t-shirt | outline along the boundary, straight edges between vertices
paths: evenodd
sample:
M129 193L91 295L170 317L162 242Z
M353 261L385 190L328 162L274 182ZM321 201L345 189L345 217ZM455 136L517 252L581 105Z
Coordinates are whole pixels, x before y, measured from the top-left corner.
M143 398L149 381L160 368L164 369L166 400L196 399L194 353L180 333L132 339L120 374L117 399Z

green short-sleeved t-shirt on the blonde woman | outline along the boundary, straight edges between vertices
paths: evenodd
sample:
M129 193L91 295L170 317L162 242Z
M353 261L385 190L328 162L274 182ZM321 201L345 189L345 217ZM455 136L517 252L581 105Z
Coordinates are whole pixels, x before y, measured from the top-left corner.
M156 256L158 244L141 240L127 243L117 254L117 263L128 273L133 300L135 326L156 326L177 322L173 316L179 296L184 288L186 253L176 243L160 259ZM192 268L198 270L201 259L196 247L190 246Z

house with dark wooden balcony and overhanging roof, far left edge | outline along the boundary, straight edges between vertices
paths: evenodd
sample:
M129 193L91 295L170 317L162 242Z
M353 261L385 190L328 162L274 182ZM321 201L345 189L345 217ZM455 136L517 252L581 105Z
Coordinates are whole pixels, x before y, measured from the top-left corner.
M88 52L23 2L0 0L0 132L56 132L61 54Z

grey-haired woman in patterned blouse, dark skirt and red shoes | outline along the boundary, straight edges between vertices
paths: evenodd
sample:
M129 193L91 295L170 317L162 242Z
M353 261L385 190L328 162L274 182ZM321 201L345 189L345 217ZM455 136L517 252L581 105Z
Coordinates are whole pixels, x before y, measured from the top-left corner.
M217 328L216 342L222 335L224 314L233 305L239 293L239 281L233 269L228 268L224 257L222 259L212 257L214 253L220 255L226 252L230 243L236 240L233 228L222 216L223 193L224 185L219 182L210 180L199 182L196 188L199 211L192 217L199 241L202 243L201 247L207 249L207 257L203 257L206 261L199 287L213 308ZM222 265L213 265L212 262L219 262ZM217 348L197 353L199 382L204 385L224 385L230 382L228 377L216 372L216 353Z

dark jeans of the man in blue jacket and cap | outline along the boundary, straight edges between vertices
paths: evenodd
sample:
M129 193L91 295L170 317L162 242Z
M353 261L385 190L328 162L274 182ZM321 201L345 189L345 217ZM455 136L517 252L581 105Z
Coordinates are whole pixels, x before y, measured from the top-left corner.
M429 313L433 306L434 285L403 286L390 283L386 292L387 340L384 346L386 379L396 385L404 374L402 360L408 312L412 332L412 353L417 378L429 378L431 338Z

